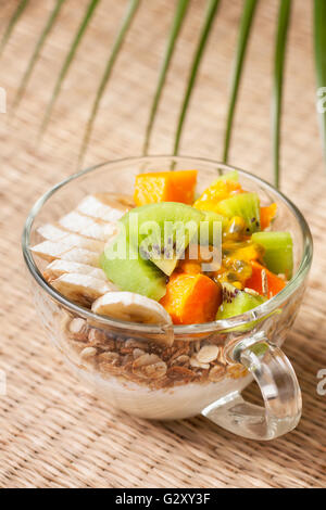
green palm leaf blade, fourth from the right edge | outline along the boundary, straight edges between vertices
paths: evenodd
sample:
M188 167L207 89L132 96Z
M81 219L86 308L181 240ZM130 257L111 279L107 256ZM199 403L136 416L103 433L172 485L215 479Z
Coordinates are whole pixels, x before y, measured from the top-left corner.
M202 58L203 51L205 49L205 44L208 42L211 26L212 26L213 21L215 18L215 14L216 14L216 11L217 11L218 3L220 3L220 0L209 0L209 3L208 3L208 9L206 9L206 13L205 13L205 16L204 16L204 22L203 22L203 25L202 25L202 28L201 28L198 46L197 46L195 56L193 56L193 60L192 60L192 64L191 64L191 68L190 68L190 75L189 75L189 78L188 78L188 84L187 84L187 88L186 88L186 92L185 92L185 97L184 97L184 102L183 102L179 118L178 118L177 130L176 130L175 142L174 142L174 154L177 154L178 150L179 150L179 143L180 143L180 138L181 138L183 127L184 127L184 123L185 123L185 119L186 119L186 114L187 114L189 101L190 101L190 98L191 98L192 89L193 89L193 86L195 86L195 82L196 82L199 64L201 62L201 58Z

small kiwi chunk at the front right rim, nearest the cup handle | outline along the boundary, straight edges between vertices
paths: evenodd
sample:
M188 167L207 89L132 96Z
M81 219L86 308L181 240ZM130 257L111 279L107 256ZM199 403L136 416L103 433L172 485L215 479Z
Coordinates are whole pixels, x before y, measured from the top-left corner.
M240 291L230 283L222 283L223 302L218 308L216 319L228 319L237 315L244 314L258 306L262 305L266 298L263 296L252 295L248 292Z

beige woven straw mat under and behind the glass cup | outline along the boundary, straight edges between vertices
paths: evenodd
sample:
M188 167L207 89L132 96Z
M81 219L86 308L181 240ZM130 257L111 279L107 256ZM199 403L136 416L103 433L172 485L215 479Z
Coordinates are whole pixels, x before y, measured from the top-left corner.
M322 158L312 48L312 2L296 0L289 34L281 188L305 215L315 255L303 306L285 345L303 394L291 434L254 443L203 418L156 423L130 418L87 393L48 343L26 288L20 237L33 203L76 170L93 94L126 1L102 0L78 50L49 129L45 112L86 0L68 0L35 67L14 119L11 105L52 0L32 0L3 52L0 86L0 396L1 487L322 487L326 482L326 174ZM0 30L16 0L1 1ZM187 117L181 154L220 158L240 0L221 2ZM145 0L97 117L85 164L139 155L165 47L172 0ZM269 104L276 0L260 2L250 40L230 163L271 179ZM82 9L83 7L83 9ZM192 1L173 59L151 153L171 153L204 2ZM1 35L1 34L0 34ZM326 84L325 84L326 85Z

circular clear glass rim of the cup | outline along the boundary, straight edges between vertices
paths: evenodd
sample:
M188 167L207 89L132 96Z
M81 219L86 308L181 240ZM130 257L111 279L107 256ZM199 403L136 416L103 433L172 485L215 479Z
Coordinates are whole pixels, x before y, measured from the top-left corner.
M261 179L260 177L254 176L253 174L250 174L249 171L242 170L241 168L216 162L214 160L205 158L205 157L196 157L196 156L187 156L187 155L170 155L170 154L160 154L160 155L147 155L147 156L135 156L135 157L124 157L124 158L118 158L118 160L112 160L112 161L106 161L104 163L99 163L97 165L92 165L90 167L87 167L80 171L77 171L67 178L63 179L59 183L54 184L52 188L50 188L46 193L43 193L38 201L34 204L32 207L25 226L23 230L23 235L22 235L22 250L23 250L23 256L24 260L26 263L27 269L30 272L32 277L36 281L38 285L42 288L43 291L46 291L55 302L60 303L63 305L65 308L70 309L72 313L77 314L78 316L82 316L86 319L91 319L92 321L97 321L100 324L103 326L109 326L111 328L120 328L120 329L133 329L134 331L137 330L139 333L152 333L152 334L162 334L164 332L164 327L155 326L155 324L140 324L138 322L127 322L114 318L109 318L108 316L100 316L97 314L93 314L90 311L88 308L85 308L83 306L76 305L72 301L67 299L64 297L62 294L60 294L54 288L52 288L43 278L41 272L39 271L37 264L34 260L34 256L29 250L29 237L30 237L30 231L32 227L34 224L34 220L36 216L39 214L41 211L42 206L48 202L51 196L61 188L63 188L65 184L68 184L71 181L78 179L79 177L84 177L87 174L90 174L91 171L95 171L99 168L102 168L103 166L109 166L114 167L115 165L122 165L122 164L128 164L128 163L141 163L141 162L147 162L147 161L153 161L153 160L173 160L176 163L181 163L184 160L187 160L188 162L193 162L195 168L196 168L196 163L200 164L210 164L217 166L222 170L237 170L239 171L240 175L246 176L247 178L255 181L258 184L262 186L266 190L269 190L273 193L276 193L278 199L292 212L294 215L299 227L301 229L302 238L303 238L303 253L302 253L302 258L299 265L299 268L292 279L287 283L287 285L274 297L269 298L262 305L258 306L253 310L246 311L242 315L229 318L229 319L223 319L223 320L215 320L212 322L204 322L200 324L177 324L174 326L174 331L176 335L193 335L193 334L199 334L199 333L210 333L210 332L222 332L225 330L231 330L234 328L238 328L243 324L248 324L248 322L255 321L258 319L262 319L263 317L266 317L273 311L277 310L283 303L291 296L293 292L301 285L303 282L306 273L309 272L311 262L312 262L312 253L313 253L313 240L312 240L312 234L310 231L310 228L303 217L303 215L300 213L298 207L289 200L287 196L278 191L276 188L274 188L272 184L266 182L265 180Z

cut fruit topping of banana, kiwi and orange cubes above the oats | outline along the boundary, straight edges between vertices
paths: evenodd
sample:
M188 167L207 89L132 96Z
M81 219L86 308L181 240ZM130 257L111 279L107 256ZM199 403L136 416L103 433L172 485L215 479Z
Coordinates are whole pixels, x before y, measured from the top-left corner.
M86 196L38 229L32 250L68 299L134 322L190 324L227 319L264 303L291 278L292 239L272 230L277 206L261 206L237 171L196 196L197 171L140 174L134 197Z

